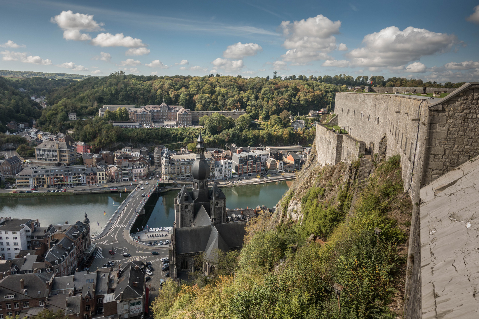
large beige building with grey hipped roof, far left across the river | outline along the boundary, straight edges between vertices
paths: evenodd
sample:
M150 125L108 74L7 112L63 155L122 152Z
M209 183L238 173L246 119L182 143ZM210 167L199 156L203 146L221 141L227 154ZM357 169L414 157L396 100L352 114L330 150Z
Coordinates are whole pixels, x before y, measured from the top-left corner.
M35 160L45 162L46 164L61 163L70 165L76 162L76 147L72 146L71 141L54 142L44 141L35 147Z

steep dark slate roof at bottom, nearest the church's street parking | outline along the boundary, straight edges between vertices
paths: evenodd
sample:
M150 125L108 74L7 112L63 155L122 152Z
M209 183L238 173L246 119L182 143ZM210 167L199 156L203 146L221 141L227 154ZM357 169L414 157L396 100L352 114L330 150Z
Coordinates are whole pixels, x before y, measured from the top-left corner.
M138 266L138 269L135 267ZM129 262L123 264L118 284L115 288L115 300L130 300L143 297L143 287L145 286L145 274L143 273L142 262ZM137 286L133 283L137 282Z

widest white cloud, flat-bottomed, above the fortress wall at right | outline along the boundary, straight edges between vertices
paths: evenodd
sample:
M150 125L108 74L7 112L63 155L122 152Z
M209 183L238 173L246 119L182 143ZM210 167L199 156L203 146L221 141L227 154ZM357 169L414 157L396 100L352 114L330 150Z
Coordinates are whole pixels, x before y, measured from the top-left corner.
M346 55L352 58L353 66L401 66L424 55L449 51L457 43L454 34L413 27L400 31L398 27L391 26L367 34L363 39L365 46Z

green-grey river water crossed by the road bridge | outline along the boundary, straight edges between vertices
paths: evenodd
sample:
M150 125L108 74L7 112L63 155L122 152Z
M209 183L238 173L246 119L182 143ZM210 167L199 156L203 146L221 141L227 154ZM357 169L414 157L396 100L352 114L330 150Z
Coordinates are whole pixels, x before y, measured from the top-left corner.
M273 207L291 185L292 180L271 182L258 185L242 185L221 188L227 198L227 207L246 208L264 205ZM149 227L172 226L174 217L174 198L178 191L154 194L152 203L145 208L146 215L138 224ZM68 221L83 220L85 212L90 219L91 233L96 234L110 219L120 201L119 193L91 194L75 196L35 196L0 197L0 216L11 218L38 219L42 226ZM155 198L158 200L155 203ZM150 213L151 212L151 213ZM105 215L106 213L106 215ZM146 220L148 218L148 220ZM146 221L146 222L145 222ZM137 225L135 225L137 227ZM141 229L140 229L141 230Z

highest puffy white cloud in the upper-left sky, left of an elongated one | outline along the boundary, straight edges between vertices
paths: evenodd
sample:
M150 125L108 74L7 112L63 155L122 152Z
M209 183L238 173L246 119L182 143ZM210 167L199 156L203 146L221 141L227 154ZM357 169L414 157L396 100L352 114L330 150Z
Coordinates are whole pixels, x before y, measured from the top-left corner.
M85 41L91 40L88 33L80 33L81 30L99 31L103 30L103 23L93 20L93 15L73 13L71 10L62 11L60 14L50 19L51 22L63 30L63 38L66 40Z

